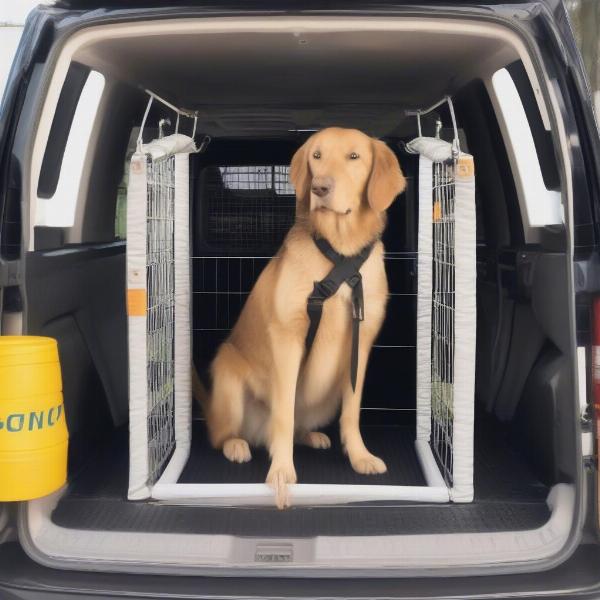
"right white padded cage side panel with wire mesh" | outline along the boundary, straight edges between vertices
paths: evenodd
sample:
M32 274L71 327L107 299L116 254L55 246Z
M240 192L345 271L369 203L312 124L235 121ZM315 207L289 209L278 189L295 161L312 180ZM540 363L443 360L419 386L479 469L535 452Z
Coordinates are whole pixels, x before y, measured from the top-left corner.
M427 444L450 499L473 499L476 221L473 157L420 137L417 444Z

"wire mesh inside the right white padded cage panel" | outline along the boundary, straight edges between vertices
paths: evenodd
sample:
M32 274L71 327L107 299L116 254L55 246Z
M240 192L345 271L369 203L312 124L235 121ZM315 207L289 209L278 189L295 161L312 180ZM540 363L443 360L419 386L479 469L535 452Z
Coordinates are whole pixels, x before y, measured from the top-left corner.
M455 180L454 162L433 164L431 444L448 486L453 472Z

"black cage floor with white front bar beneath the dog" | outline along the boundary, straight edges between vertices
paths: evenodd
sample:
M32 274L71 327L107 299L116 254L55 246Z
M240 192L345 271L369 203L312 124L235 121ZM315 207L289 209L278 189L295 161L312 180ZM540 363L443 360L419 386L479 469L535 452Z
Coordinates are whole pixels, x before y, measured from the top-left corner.
M363 431L369 450L382 458L387 473L356 473L344 455L337 429L328 432L332 448L316 450L297 445L294 463L299 483L290 486L294 504L340 504L366 501L447 502L442 479L429 444L419 447L412 427L369 427ZM400 458L401 457L401 458ZM176 458L172 459L176 462ZM273 491L264 482L269 457L253 449L249 463L228 461L210 447L204 424L194 422L192 445L177 481L163 476L152 489L156 500L208 505L271 505Z

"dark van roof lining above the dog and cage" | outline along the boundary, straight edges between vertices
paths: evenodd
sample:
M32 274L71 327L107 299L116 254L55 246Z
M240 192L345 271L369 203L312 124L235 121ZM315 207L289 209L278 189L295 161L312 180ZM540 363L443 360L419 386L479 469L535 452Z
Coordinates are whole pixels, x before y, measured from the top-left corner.
M517 58L499 39L439 31L169 33L99 40L74 56L217 130L253 119L267 130L321 127L352 114L388 133L406 109Z

